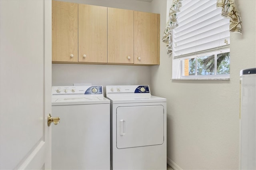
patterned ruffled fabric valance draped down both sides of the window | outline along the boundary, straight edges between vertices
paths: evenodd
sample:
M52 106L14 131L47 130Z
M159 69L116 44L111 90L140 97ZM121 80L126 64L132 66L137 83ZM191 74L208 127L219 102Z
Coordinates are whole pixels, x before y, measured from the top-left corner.
M182 7L182 0L173 0L172 6L169 11L169 20L164 30L164 36L162 42L166 44L167 54L172 53L172 30L178 27L177 12L180 12ZM242 34L242 18L238 11L234 0L217 0L216 6L222 8L222 16L224 18L230 18L230 32L238 32Z

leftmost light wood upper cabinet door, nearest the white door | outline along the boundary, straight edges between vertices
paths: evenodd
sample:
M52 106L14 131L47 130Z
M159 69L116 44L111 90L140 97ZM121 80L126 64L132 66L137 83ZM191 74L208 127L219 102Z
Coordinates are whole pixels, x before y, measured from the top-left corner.
M52 1L52 61L78 61L78 4Z

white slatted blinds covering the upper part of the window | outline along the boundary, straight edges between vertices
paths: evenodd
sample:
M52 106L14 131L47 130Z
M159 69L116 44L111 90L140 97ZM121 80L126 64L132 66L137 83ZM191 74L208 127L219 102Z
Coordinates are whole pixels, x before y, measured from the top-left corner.
M172 37L174 59L229 48L229 19L221 16L216 0L182 0L177 18L179 26Z

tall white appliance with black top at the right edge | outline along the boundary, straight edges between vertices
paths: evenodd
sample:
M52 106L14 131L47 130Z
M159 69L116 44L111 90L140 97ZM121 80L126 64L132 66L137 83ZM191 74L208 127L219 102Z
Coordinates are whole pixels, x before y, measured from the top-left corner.
M256 68L240 71L240 169L256 169Z

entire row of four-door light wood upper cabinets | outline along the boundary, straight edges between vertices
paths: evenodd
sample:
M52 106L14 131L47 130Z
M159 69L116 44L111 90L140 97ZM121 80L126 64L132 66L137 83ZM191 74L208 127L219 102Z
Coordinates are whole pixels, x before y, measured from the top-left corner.
M52 62L159 65L160 14L52 1Z

